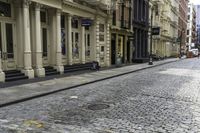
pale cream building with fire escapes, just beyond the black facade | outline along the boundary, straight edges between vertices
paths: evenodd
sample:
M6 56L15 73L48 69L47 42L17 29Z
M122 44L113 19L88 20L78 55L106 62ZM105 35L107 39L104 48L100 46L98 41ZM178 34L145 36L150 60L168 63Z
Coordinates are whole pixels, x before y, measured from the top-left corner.
M160 27L159 35L154 35L152 39L152 54L161 58L177 56L178 0L163 0L159 2L151 0L150 7L149 18L153 13L152 25L153 27Z

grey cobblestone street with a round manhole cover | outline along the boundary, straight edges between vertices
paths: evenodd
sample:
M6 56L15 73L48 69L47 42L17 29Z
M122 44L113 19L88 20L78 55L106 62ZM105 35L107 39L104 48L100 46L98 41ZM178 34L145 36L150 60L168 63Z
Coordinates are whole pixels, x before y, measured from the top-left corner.
M200 133L199 92L186 59L1 108L0 133Z

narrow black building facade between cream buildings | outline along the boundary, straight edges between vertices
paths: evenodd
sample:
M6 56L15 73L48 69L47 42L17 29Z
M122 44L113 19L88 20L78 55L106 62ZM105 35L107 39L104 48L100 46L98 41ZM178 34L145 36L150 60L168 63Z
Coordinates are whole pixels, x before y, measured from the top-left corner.
M133 1L133 61L148 61L149 0Z

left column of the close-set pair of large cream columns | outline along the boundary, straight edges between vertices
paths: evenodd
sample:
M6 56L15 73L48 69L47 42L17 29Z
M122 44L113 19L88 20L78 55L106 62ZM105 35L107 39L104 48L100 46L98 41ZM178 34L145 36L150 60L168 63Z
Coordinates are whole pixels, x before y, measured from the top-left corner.
M30 41L30 18L29 18L29 0L23 1L23 30L24 30L24 70L26 76L34 78L31 60L31 41Z

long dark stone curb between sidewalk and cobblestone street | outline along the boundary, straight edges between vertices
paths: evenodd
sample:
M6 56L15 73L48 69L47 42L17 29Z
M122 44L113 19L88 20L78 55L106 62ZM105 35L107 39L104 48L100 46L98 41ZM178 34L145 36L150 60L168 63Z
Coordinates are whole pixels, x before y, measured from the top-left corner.
M33 95L33 96L13 100L13 101L10 101L10 102L0 104L0 108L7 107L7 106L10 106L10 105L14 105L14 104L21 103L21 102L25 102L25 101L29 101L29 100L32 100L32 99L40 98L40 97L43 97L43 96L51 95L51 94L54 94L54 93L62 92L62 91L65 91L65 90L73 89L73 88L80 87L80 86L83 86L83 85L88 85L88 84L100 82L100 81L103 81L103 80L127 75L127 74L130 74L130 73L146 70L146 69L149 69L149 68L154 68L154 67L162 66L162 65L165 65L165 64L181 61L181 60L184 60L184 59L164 62L164 63L161 63L161 64L152 65L152 66L147 66L147 67L144 67L144 68L136 69L136 70L129 71L129 72L124 72L124 73L121 73L121 74L116 74L116 75L113 75L113 76L110 76L110 77L105 77L105 78L97 79L97 80L94 80L94 81L89 81L89 82L86 82L86 83L81 83L81 84L70 86L70 87L67 87L67 88L61 88L61 89L57 89L57 90L44 92L44 93L41 93L41 94L36 94L36 95Z

